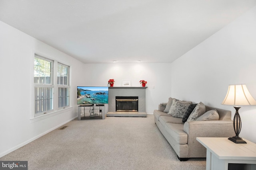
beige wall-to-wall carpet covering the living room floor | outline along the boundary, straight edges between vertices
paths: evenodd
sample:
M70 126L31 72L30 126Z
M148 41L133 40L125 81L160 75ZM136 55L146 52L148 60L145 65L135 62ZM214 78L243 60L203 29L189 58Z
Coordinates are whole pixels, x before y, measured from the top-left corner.
M29 170L205 170L205 158L177 156L148 117L73 120L0 160L27 160Z

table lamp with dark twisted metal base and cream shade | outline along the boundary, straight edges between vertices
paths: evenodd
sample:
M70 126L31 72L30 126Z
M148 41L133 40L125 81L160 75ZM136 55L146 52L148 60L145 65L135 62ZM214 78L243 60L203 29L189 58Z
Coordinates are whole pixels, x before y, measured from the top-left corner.
M228 92L226 94L225 99L221 103L223 105L231 105L236 109L236 113L234 115L233 126L236 136L228 138L230 141L234 143L246 143L241 137L239 137L239 133L241 131L242 122L238 110L241 108L240 106L253 106L256 105L256 101L248 91L245 84L232 84L228 86Z

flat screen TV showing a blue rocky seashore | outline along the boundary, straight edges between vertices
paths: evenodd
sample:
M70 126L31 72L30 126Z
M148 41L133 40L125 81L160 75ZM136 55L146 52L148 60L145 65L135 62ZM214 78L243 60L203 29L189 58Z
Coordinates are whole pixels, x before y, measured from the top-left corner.
M108 104L108 87L78 86L77 104Z

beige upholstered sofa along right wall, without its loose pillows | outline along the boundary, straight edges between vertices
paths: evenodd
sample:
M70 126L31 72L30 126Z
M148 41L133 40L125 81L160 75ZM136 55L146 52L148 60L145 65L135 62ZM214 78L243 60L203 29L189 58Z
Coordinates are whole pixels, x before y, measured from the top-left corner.
M232 137L234 136L231 111L205 106L206 111L217 109L219 120L186 121L163 112L159 105L154 110L154 119L158 129L176 152L180 161L188 158L205 158L206 149L196 137Z

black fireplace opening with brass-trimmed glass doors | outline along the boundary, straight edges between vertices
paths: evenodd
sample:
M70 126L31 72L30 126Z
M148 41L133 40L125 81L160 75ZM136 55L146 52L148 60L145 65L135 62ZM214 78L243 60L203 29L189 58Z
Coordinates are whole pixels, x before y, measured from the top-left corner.
M116 111L138 111L138 96L116 96Z

